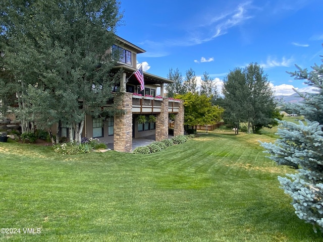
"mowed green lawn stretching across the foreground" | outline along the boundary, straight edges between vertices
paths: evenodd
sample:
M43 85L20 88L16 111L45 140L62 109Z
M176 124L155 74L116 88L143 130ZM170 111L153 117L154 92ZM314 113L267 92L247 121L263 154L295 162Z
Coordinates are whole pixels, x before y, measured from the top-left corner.
M323 241L294 214L264 135L204 134L158 153L60 155L0 143L0 241ZM40 228L24 234L23 228Z

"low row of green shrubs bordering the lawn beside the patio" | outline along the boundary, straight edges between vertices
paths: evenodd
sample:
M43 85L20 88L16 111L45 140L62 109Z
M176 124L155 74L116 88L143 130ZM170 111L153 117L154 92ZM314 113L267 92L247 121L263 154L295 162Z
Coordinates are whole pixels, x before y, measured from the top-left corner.
M150 154L155 153L160 150L164 150L169 146L183 144L188 139L194 138L195 135L178 135L173 137L172 139L166 139L162 141L152 142L150 145L139 146L133 150L134 154Z

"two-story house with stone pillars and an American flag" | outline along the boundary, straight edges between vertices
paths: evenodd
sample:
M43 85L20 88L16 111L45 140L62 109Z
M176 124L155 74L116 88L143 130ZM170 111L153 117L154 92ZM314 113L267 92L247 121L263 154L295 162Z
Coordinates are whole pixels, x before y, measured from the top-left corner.
M87 115L82 137L98 138L100 142L113 143L114 150L131 152L133 138L155 135L156 141L167 139L170 113L175 114L174 136L183 135L183 101L163 98L165 84L173 81L143 72L145 88L140 91L140 83L133 73L137 70L137 54L144 53L145 50L120 37L117 37L113 48L118 48L122 53L114 69L123 70L120 80L123 95L116 96L115 100L118 100L118 108L125 110L125 113L105 117L103 120ZM160 92L159 96L156 96L157 91ZM109 102L106 106L109 106ZM138 124L139 115L154 115L156 122ZM61 136L68 137L67 132L67 127L60 127Z

